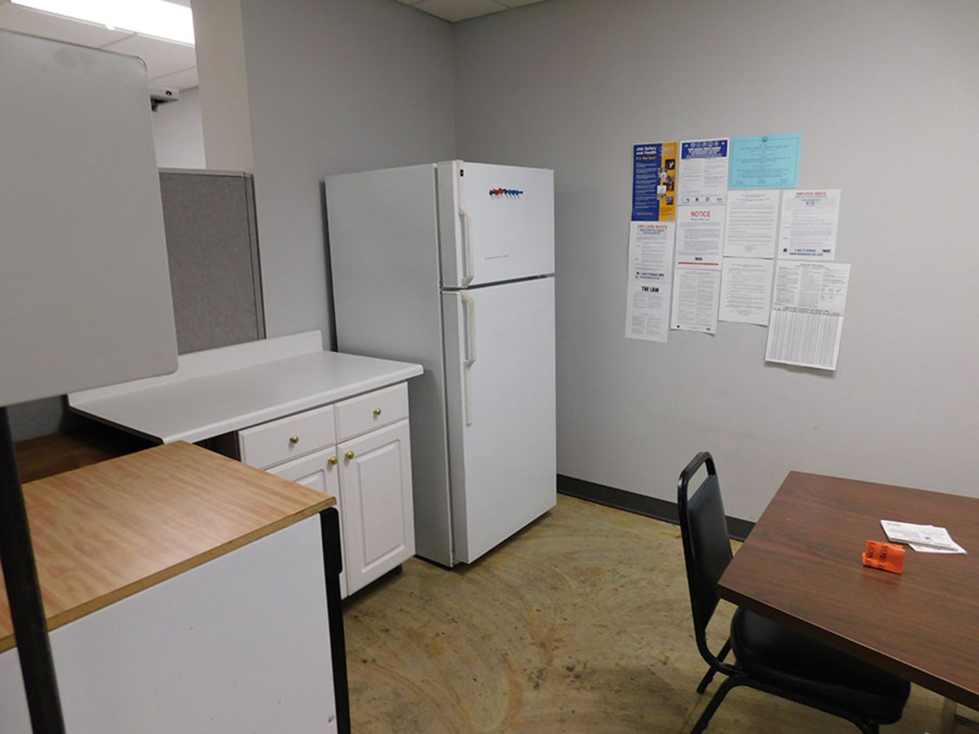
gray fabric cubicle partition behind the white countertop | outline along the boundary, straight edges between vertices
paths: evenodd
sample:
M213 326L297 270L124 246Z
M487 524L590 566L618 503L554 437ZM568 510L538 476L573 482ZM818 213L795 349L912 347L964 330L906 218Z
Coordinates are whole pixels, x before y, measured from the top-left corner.
M252 176L160 169L163 226L177 349L210 349L265 337ZM13 405L15 440L73 428L65 398Z

